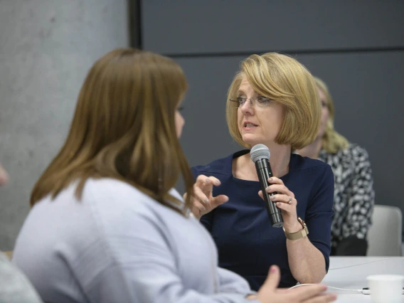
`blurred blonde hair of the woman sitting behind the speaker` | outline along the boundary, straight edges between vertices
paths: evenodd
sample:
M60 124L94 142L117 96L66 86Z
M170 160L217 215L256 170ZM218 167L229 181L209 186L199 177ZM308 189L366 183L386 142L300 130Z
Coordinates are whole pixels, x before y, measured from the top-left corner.
M335 154L340 149L346 149L346 147L348 147L348 140L334 129L334 101L332 100L326 83L317 77L314 77L314 81L316 81L317 87L324 92L327 101L327 109L329 111L329 119L326 123L326 129L321 141L321 147L323 147L326 152Z

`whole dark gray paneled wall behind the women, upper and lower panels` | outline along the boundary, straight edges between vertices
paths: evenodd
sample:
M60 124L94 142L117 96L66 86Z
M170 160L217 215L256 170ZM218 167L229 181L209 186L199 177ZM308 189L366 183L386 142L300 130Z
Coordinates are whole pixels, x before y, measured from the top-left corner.
M376 203L398 206L404 171L404 1L142 1L145 49L184 68L191 165L237 149L225 96L240 60L286 50L329 84L336 129L368 150Z

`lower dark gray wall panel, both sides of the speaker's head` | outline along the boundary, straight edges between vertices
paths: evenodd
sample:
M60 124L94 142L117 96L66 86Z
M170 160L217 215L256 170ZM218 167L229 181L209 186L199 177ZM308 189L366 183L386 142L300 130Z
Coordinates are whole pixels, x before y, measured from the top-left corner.
M368 150L376 203L404 203L398 188L404 171L404 102L400 100L404 52L297 55L314 75L329 83L336 129ZM240 149L225 122L226 90L243 57L181 58L190 89L184 102L181 143L191 165L207 164ZM395 73L391 73L395 70Z

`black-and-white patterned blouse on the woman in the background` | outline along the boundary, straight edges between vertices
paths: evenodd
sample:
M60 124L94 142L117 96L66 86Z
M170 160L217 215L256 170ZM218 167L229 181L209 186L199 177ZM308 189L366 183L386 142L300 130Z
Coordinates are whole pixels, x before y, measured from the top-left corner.
M375 203L371 163L366 149L349 144L346 149L329 154L321 149L319 160L334 172L334 218L331 247L350 235L366 239Z

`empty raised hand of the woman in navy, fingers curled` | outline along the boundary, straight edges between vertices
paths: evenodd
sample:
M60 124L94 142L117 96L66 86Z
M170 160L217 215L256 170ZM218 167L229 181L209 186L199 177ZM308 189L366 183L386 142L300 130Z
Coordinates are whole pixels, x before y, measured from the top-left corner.
M219 186L219 179L214 176L204 176L199 175L196 178L196 183L193 184L193 197L192 197L192 208L191 211L193 216L201 218L201 216L212 211L214 208L218 207L228 201L228 196L219 195L216 197L212 196L213 186ZM186 198L186 193L184 194L184 199Z

